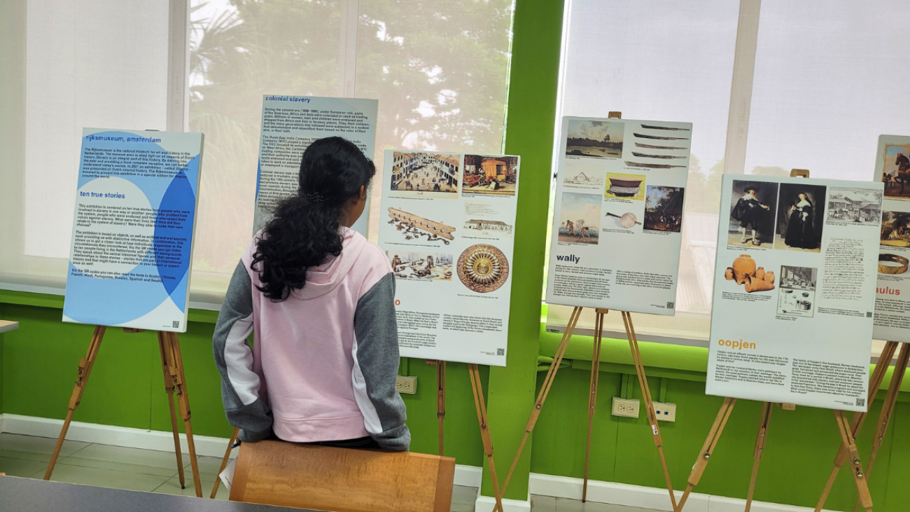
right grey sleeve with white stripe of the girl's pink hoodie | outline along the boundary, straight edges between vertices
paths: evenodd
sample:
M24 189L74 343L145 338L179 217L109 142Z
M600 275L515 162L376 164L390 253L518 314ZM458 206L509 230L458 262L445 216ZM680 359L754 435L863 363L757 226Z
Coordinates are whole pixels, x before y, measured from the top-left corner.
M395 278L386 274L364 293L354 313L354 392L364 426L379 446L394 451L410 447L404 401L395 387L399 367L395 322Z

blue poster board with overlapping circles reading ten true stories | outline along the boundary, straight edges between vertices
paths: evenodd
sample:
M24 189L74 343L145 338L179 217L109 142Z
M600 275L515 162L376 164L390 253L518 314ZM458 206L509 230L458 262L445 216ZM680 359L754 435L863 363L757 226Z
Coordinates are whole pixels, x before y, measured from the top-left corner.
M64 322L187 331L202 140L83 130Z

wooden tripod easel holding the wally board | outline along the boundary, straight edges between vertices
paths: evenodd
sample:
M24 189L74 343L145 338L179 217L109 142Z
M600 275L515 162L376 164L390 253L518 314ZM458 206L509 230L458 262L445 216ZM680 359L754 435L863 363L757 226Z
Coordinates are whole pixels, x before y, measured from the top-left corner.
M608 118L611 119L622 119L622 112L610 112ZM663 129L679 129L679 128L663 128ZM571 134L570 134L571 137ZM537 396L537 400L534 402L533 408L531 409L531 415L528 418L528 424L525 426L524 435L521 437L521 444L518 447L518 452L515 454L514 459L512 459L511 467L509 473L506 475L506 479L502 484L502 492L505 493L506 489L509 486L509 481L511 479L512 473L515 471L515 467L518 466L519 458L521 457L521 452L524 449L524 445L528 441L528 437L531 435L531 432L534 430L534 426L537 424L537 419L541 415L541 409L543 408L544 402L547 400L547 394L550 393L551 385L556 378L556 373L559 371L560 364L562 362L562 357L565 355L566 349L569 347L571 342L571 335L575 330L575 325L578 323L579 318L581 317L581 306L575 306L572 309L571 316L569 317L569 323L566 325L565 332L562 334L562 339L559 346L556 349L556 354L553 357L553 360L550 364L550 368L547 370L547 374L543 379L543 384L541 385L541 391ZM584 483L581 490L581 501L584 502L587 499L588 493L588 470L589 463L591 459L591 427L593 425L594 413L597 404L597 386L598 386L598 376L600 373L600 359L601 359L601 344L603 339L603 318L609 312L605 308L594 308L595 321L594 321L594 344L593 344L593 353L591 354L591 388L589 393L588 400L588 436L585 446L585 456L584 456ZM661 459L661 466L663 469L663 476L666 480L667 490L670 493L670 500L672 506L676 508L676 497L673 494L672 483L670 480L670 471L667 468L666 458L663 455L663 439L661 436L661 429L657 425L657 415L654 412L654 405L651 396L651 390L648 387L647 375L644 371L644 365L642 364L642 354L639 350L638 339L635 336L635 328L632 325L632 313L631 312L622 312L622 323L625 326L626 337L629 340L629 348L632 352L632 361L635 365L635 374L638 375L638 382L642 388L642 398L645 406L645 415L647 416L648 424L651 425L652 438L654 445L657 447L657 453Z

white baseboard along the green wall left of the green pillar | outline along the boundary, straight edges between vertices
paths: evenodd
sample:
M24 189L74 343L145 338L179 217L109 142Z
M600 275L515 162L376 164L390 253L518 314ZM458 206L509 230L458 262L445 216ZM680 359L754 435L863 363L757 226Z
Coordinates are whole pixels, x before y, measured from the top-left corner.
M50 437L56 439L63 427L63 420L39 418L25 415L0 415L0 433L35 435L37 437ZM171 452L174 450L174 435L170 432L159 430L145 430L127 426L98 425L95 423L70 422L66 439L95 443L97 445L126 446L127 448L142 448ZM211 435L193 435L196 442L196 454L199 456L223 457L227 448L227 437L214 437ZM180 435L180 447L187 453L187 435ZM235 450L231 458L237 456ZM455 485L480 487L482 477L480 466L455 466Z

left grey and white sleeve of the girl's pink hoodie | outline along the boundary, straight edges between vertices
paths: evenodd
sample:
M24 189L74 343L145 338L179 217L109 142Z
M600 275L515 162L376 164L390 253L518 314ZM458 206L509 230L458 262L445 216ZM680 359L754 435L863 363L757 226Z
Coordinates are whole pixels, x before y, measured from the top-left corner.
M259 376L247 337L253 332L252 282L243 261L238 263L218 312L212 348L221 374L221 400L227 422L240 429L240 440L255 442L272 432L272 412L259 398Z

